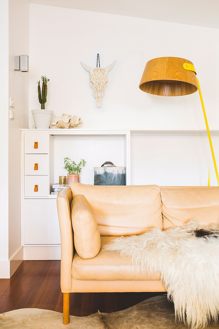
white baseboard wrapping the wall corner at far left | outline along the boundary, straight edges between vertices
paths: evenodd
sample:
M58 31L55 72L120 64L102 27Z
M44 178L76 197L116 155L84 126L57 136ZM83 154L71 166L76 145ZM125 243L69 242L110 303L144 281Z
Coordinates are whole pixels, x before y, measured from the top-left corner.
M8 261L0 261L0 278L10 279L18 266L23 262L23 247L20 247Z

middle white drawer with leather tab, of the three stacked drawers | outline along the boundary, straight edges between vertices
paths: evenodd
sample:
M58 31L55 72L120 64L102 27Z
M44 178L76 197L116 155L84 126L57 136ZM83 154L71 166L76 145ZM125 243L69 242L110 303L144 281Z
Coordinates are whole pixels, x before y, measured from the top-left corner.
M25 154L24 175L48 175L48 154Z

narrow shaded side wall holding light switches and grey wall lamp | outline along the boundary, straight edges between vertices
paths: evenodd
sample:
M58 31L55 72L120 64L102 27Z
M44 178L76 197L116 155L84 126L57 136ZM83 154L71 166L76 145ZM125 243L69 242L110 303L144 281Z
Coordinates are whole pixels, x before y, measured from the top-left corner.
M21 128L28 128L29 73L13 69L13 56L29 55L28 0L9 1L9 97L15 120L9 120L9 259L21 247ZM9 107L10 110L10 107Z

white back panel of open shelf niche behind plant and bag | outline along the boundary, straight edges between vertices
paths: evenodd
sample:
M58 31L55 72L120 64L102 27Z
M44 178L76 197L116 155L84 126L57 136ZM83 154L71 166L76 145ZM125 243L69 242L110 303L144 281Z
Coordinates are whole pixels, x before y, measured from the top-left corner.
M59 182L59 176L67 175L63 168L64 158L74 159L78 164L85 159L86 164L80 175L80 183L93 184L93 167L101 166L111 161L117 166L125 166L124 136L64 136L54 138L54 182Z

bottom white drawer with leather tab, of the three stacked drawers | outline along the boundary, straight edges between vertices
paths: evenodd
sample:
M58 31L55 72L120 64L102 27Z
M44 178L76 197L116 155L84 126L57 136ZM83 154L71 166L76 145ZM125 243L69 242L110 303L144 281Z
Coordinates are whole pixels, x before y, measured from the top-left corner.
M48 196L48 176L24 176L24 196Z

